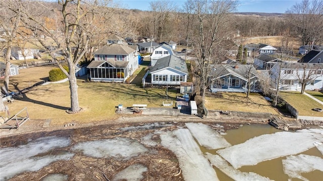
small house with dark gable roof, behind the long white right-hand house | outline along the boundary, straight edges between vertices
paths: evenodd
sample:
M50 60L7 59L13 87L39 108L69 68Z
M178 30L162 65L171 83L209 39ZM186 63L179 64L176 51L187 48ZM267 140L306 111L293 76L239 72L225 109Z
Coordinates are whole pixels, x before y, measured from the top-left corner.
M254 58L253 64L256 69L270 70L275 66L275 64L279 62L282 62L282 60L279 58L275 58L266 54L260 54Z

